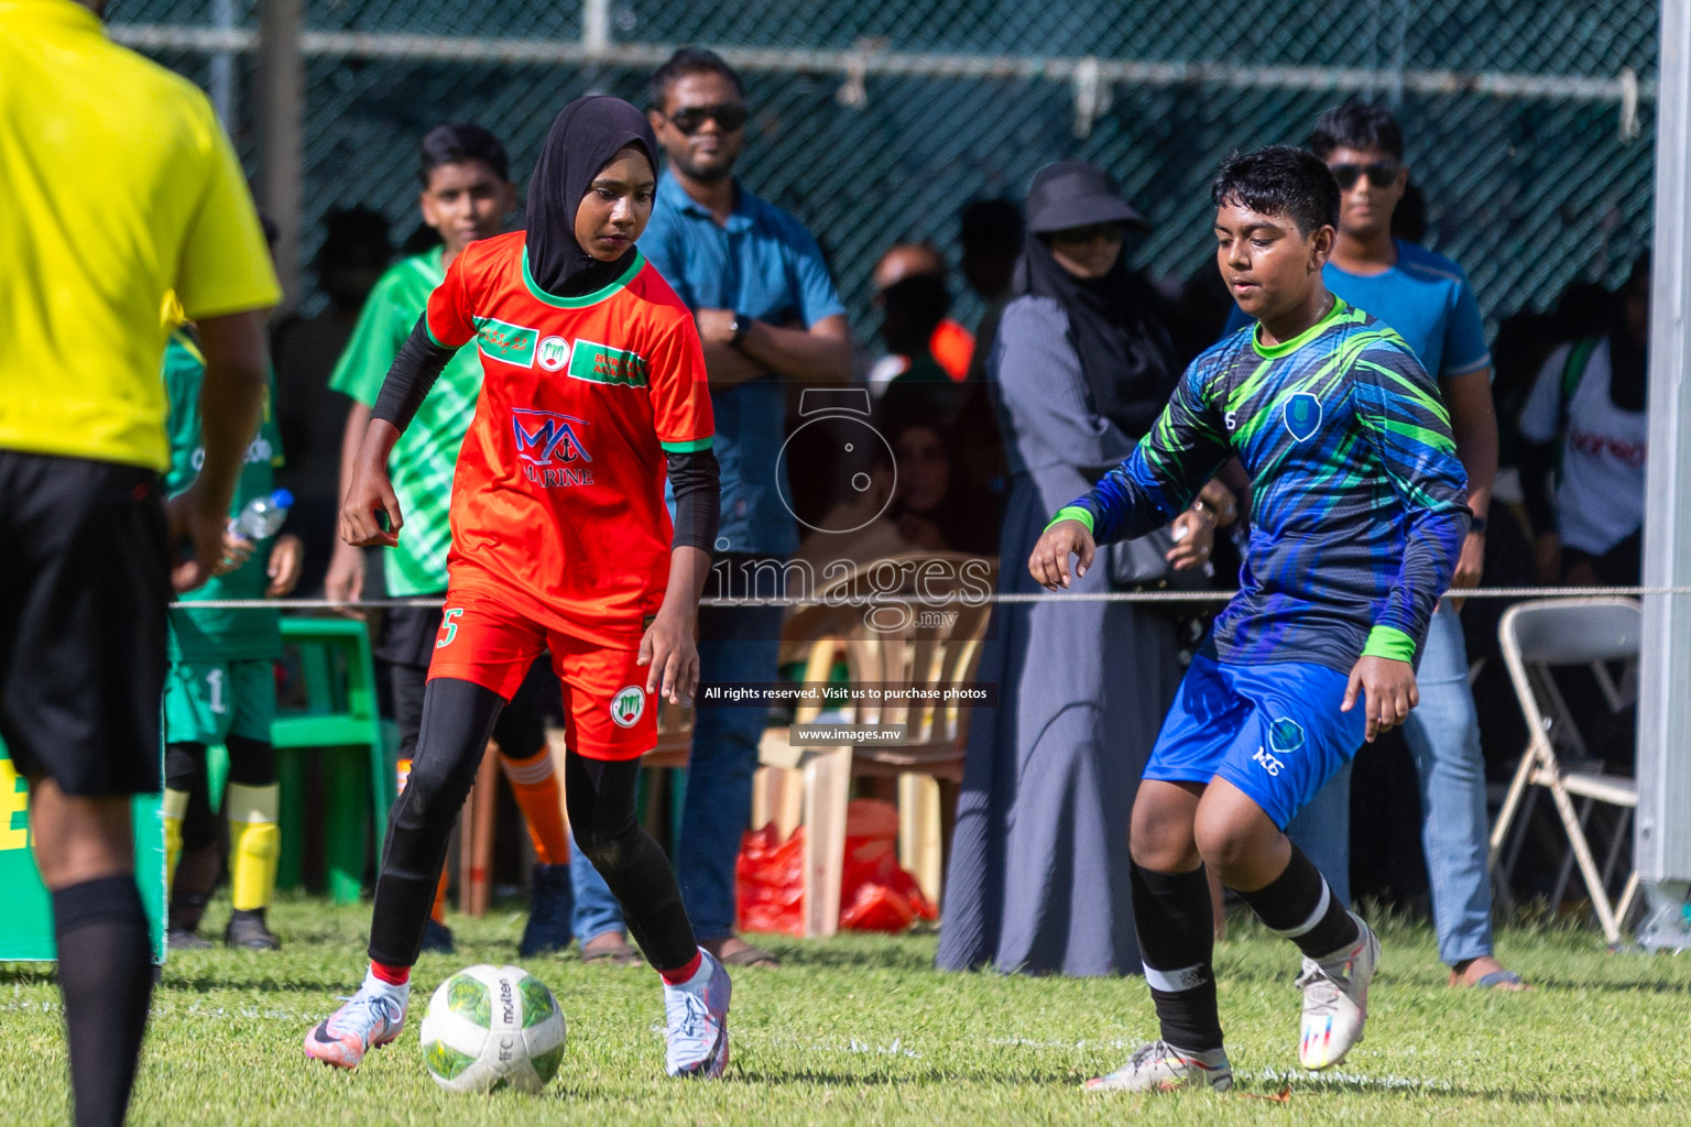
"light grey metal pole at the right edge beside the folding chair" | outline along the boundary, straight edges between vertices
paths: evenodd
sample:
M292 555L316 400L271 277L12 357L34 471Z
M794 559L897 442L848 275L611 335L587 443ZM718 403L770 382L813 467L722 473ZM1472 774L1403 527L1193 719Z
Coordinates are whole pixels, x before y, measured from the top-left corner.
M1645 586L1691 580L1691 7L1662 2L1655 101L1655 250L1650 279L1650 460ZM1691 598L1647 595L1639 662L1639 818L1634 853L1647 946L1691 946Z

